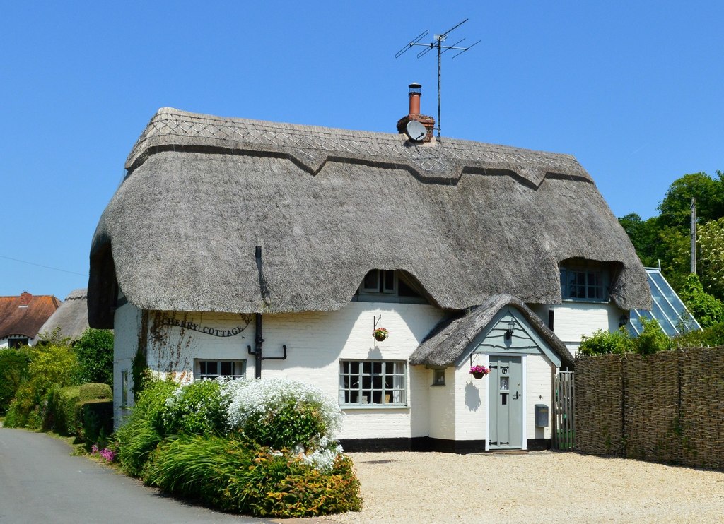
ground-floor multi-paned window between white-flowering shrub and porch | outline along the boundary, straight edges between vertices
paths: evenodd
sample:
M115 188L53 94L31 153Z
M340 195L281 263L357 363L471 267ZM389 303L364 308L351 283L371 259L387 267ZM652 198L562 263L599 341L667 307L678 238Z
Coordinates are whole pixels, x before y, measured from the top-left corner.
M340 405L407 405L404 361L340 361Z

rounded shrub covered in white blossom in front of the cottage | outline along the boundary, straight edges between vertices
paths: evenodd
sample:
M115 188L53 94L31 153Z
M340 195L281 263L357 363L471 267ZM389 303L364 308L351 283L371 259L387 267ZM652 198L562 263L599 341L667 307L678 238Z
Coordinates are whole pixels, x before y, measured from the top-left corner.
M222 385L222 395L230 431L275 450L306 453L309 463L334 461L342 412L318 387L286 379L235 380Z

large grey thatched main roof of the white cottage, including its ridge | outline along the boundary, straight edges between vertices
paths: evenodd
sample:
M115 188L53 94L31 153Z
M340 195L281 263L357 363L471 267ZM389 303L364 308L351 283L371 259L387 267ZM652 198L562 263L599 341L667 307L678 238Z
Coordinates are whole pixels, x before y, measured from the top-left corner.
M560 303L559 262L614 262L623 309L646 274L570 155L161 109L90 252L90 325L114 284L142 309L339 309L371 269L405 270L439 306L497 293ZM254 256L262 246L261 277Z

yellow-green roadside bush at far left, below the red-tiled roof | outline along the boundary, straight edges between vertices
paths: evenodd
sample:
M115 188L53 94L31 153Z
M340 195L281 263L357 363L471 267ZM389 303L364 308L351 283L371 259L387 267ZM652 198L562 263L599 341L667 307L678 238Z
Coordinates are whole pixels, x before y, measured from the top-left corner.
M15 392L4 424L41 429L51 391L75 384L75 353L68 345L54 343L28 348L28 353L28 379Z

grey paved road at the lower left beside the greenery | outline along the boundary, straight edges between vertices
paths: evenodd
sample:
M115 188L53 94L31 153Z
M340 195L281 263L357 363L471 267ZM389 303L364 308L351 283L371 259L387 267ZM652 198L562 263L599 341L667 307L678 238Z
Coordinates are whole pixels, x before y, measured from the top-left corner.
M185 504L71 451L46 434L0 428L0 523L278 522Z

